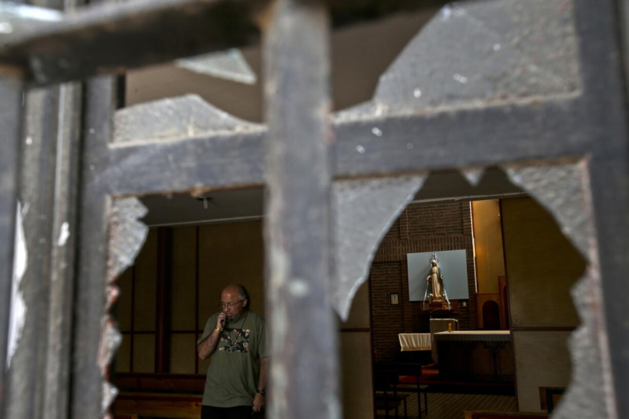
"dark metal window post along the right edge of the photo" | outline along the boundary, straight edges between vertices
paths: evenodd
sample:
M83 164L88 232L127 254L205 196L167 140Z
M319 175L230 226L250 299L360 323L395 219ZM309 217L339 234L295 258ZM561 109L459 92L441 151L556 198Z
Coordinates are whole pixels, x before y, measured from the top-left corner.
M629 398L623 396L629 385L629 323L624 298L629 291L629 142L626 91L622 89L623 59L620 1L603 1L593 6L576 2L577 24L584 80L581 112L593 147L589 150L590 182L596 232L599 270L602 282L603 321L598 333L603 348L600 368L605 379L606 408L610 417L629 415ZM626 71L626 69L625 69ZM607 351L609 349L609 352Z

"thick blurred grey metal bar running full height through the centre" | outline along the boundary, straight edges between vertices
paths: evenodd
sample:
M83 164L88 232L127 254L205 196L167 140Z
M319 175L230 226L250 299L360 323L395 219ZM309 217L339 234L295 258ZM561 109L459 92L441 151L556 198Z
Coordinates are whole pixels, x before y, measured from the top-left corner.
M265 33L270 417L338 418L330 305L328 15L281 0Z

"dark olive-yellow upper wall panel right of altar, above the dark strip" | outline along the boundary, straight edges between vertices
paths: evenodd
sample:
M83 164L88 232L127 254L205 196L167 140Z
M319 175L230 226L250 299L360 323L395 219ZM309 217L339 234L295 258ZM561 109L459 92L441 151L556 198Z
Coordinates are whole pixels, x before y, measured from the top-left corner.
M579 325L570 288L584 260L533 199L502 205L512 327Z

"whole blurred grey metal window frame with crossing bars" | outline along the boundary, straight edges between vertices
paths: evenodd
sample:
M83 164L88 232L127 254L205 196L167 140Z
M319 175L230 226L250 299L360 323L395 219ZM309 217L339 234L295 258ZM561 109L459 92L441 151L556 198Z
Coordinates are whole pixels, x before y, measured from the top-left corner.
M36 26L6 38L0 49L0 125L3 127L0 133L3 138L0 242L5 243L0 253L3 266L0 362L6 360L9 290L13 276L11 243L16 228L19 174L23 172L18 159L23 143L20 133L23 90L239 45L245 40L232 36L232 31L225 28L218 32L185 30L186 27L196 28L190 24L191 13L203 16L195 21L199 23L226 3L233 2L142 0L104 4L67 16L58 23ZM26 369L19 383L31 388L42 376L46 377L45 382L52 383L64 367L71 367L70 376L62 376L54 388L39 389L34 394L38 403L47 400L45 406L50 410L46 410L42 408L44 404L27 408L16 403L12 396L16 388L12 388L14 383L7 380L3 369L0 411L28 413L30 417L96 418L104 414L100 403L103 399L101 379L107 376L108 365L106 357L102 356L106 344L103 323L110 319L108 304L103 301L115 298L115 288L109 287L106 291L112 274L108 271L106 246L111 197L266 184L270 191L266 226L270 278L267 298L268 306L272 307L269 317L274 325L281 316L290 319L274 330L272 338L276 343L271 373L275 389L272 415L301 417L307 412L308 417L333 418L340 415L337 358L322 355L336 352L337 337L331 327L329 284L321 280L331 277L332 269L329 252L325 250L330 243L332 179L570 158L587 162L596 216L598 266L595 268L600 272L602 289L599 291L604 301L598 308L603 319L599 332L604 355L601 368L612 384L606 389L604 403L610 417L629 416L629 399L620 396L629 384L629 376L624 374L629 371L629 357L625 354L629 327L623 298L618 298L628 291L624 275L629 271L626 257L629 237L619 233L629 231L629 152L623 72L626 53L621 48L621 30L625 28L626 19L618 13L624 10L623 4L612 0L575 0L582 77L582 90L577 96L540 99L521 106L506 105L509 118L504 118L501 106L459 109L448 115L384 118L377 122L387 133L386 138L367 137L365 140L365 131L373 126L370 120L330 126L326 110L329 64L323 47L328 23L323 5L315 1L278 0L268 9L274 18L261 20L267 60L266 130L200 136L187 140L190 147L150 142L112 145L115 86L108 76L90 79L85 84L82 141L75 140L75 128L67 128L69 137L66 138L72 140L62 143L65 144L62 147L67 148L64 159L58 164L65 167L62 169L65 171L59 178L63 179L62 184L55 188L55 210L50 211L54 220L52 237L58 237L64 222L78 223L78 228L72 230L75 243L69 247L77 246L77 268L75 272L69 268L74 266L75 255L71 250L53 255L50 275L64 278L64 285L53 290L58 298L54 307L42 303L37 308L52 313L54 320L60 322L58 325L72 321L54 329L60 337L55 345L57 352L45 355L41 352L42 345L29 347L32 359L39 362L47 359L48 364L40 372L35 371L35 366ZM239 13L244 16L251 12ZM166 31L160 33L157 29L165 21L181 30L177 32L179 40L187 43L169 42ZM294 36L279 36L280 28L299 30ZM304 38L301 30L309 36ZM96 35L84 36L89 33ZM109 47L117 47L121 36L133 37L138 42L128 45L125 54L116 55ZM40 58L42 65L33 67L33 57ZM66 91L67 104L78 103L78 87L66 85L62 89ZM284 113L294 117L284 118ZM79 126L76 113L68 112L64 118L74 121L75 127ZM70 127L70 122L67 126ZM335 133L333 142L330 142L330 128ZM294 135L304 131L309 135ZM444 136L446 131L448 135ZM470 132L483 138L482 143L468 142ZM421 147L409 150L405 147L409 142ZM358 155L355 150L359 145L373 152L366 158ZM301 147L309 147L313 155L313 163L306 167L295 164ZM198 153L198 149L202 153ZM265 154L266 165L262 159ZM181 173L174 179L160 176L160 165L169 155L175 157L174 164ZM180 163L183 161L187 164ZM190 162L194 164L189 165ZM80 185L78 191L77 185ZM308 235L296 235L296 227L302 225L306 210L313 211ZM304 254L303 249L315 251ZM304 288L307 293L303 292ZM73 290L73 298L67 296L69 289ZM291 302L291 299L294 300ZM66 305L60 304L61 301ZM274 304L276 301L287 303L280 308L279 304ZM67 306L72 306L73 316ZM293 348L277 345L289 328L306 327L317 332L299 335L299 345ZM53 342L54 335L50 333L44 342ZM60 362L61 369L54 369L51 361ZM304 375L306 372L308 374ZM53 400L60 403L52 403Z

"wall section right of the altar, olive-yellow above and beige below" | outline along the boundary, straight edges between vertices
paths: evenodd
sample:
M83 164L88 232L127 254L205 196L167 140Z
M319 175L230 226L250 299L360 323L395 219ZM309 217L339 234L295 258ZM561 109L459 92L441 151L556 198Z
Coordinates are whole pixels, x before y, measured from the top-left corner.
M504 199L502 206L518 407L542 411L539 388L569 383L567 338L579 325L569 290L585 264L533 199Z

